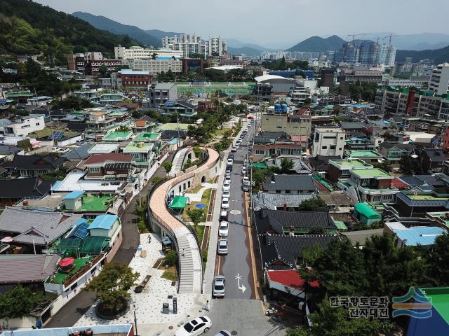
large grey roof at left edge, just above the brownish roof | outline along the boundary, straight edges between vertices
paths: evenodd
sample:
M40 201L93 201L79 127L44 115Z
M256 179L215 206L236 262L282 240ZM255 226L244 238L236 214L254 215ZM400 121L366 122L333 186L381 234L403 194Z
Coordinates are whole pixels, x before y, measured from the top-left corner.
M13 241L46 246L69 231L81 215L40 212L6 207L0 214L0 231L11 232Z

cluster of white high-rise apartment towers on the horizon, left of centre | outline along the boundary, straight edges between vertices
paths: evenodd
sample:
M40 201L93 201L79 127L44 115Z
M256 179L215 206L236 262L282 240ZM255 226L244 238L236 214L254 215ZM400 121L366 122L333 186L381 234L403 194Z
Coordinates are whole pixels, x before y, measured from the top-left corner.
M177 50L182 52L183 57L189 57L193 54L207 56L222 56L227 52L227 41L220 36L210 37L201 41L201 36L196 34L180 34L179 36L166 36L162 38L162 47L168 50Z

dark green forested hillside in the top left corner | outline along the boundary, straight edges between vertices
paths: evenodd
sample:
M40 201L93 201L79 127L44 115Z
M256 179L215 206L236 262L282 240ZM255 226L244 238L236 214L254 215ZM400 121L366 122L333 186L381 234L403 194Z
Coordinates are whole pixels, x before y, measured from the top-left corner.
M0 0L0 56L41 55L67 64L67 54L87 50L113 57L115 45L135 45L128 36L28 0ZM0 57L0 58L1 58Z

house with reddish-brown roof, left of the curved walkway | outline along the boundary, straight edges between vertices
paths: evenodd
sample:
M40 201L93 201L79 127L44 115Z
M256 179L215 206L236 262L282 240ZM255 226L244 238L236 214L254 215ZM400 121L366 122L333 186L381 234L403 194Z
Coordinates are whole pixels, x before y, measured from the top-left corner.
M85 162L87 175L85 179L126 180L135 170L131 155L120 153L94 154Z

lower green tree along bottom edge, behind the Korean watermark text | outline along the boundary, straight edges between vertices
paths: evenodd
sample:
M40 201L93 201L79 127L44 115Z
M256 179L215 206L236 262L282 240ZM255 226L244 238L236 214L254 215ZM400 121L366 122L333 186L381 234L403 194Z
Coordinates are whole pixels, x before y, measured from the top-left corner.
M311 328L297 327L287 331L287 336L375 336L394 330L389 321L372 318L349 318L349 310L343 307L331 307L326 297L311 319Z

